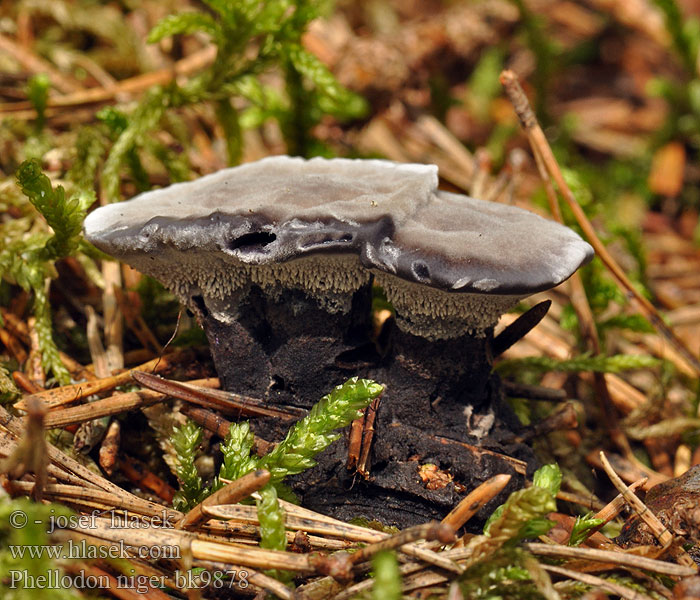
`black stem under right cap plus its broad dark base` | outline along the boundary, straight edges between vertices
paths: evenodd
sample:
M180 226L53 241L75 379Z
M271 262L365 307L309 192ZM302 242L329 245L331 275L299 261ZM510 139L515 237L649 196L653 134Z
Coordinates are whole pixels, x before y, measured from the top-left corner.
M341 438L318 457L316 468L290 481L303 505L341 519L362 516L407 527L442 516L460 498L461 482L508 473L521 485L535 460L526 445L507 442L519 425L491 370L493 327L436 341L405 331L394 319L385 327L386 357L362 372L385 384L366 471L357 478L347 470L348 441ZM419 477L429 463L454 483L429 487Z

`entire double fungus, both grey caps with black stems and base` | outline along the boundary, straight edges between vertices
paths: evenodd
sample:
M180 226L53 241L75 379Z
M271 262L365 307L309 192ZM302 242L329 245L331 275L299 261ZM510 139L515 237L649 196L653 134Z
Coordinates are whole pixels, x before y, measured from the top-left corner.
M593 255L566 227L437 183L434 166L278 156L100 208L84 229L198 316L225 388L309 407L352 375L386 384L370 477L353 491L359 504L348 506L342 442L308 475L316 487L304 500L406 525L458 500L454 486L437 499L425 493L416 454L437 463L442 454L468 487L510 468L467 467L452 446L406 437L425 432L461 448L492 440L503 450L498 436L515 423L491 373L493 327ZM396 313L381 350L373 283Z

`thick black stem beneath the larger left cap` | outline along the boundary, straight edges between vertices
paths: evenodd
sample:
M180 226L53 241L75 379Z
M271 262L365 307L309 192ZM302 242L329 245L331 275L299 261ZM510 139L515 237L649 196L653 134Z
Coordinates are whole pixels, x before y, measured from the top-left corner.
M355 374L369 339L371 286L348 294L347 311L329 312L300 289L250 285L235 320L198 311L224 389L274 404L311 407Z

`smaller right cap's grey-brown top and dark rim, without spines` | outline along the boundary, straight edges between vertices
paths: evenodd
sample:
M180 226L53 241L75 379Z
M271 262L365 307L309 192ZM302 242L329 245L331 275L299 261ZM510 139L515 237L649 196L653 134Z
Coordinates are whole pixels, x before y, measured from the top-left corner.
M530 295L588 262L579 235L532 212L438 191L373 255L402 279L445 291Z

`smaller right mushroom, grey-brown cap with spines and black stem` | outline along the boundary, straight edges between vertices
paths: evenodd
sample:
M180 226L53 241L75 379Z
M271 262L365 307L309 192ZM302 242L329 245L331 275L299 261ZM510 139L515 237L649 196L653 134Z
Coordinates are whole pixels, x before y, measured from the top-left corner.
M412 423L422 405L432 431L458 435L465 407L472 421L480 405L494 408L486 386L499 317L570 277L593 249L529 211L436 191L369 256L398 325L385 383L405 400L381 416Z

